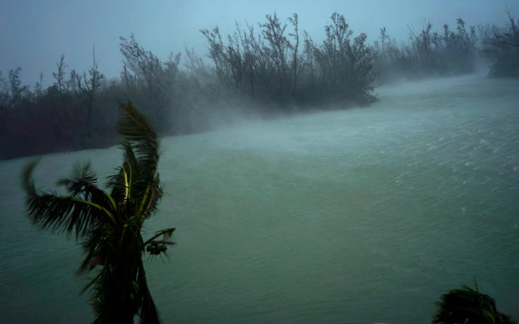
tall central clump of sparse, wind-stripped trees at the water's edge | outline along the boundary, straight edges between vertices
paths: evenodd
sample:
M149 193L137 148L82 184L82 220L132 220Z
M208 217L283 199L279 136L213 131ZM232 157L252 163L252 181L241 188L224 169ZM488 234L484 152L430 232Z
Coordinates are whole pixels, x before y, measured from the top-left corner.
M258 26L261 31L255 33L253 25L246 24L243 30L237 24L227 37L222 37L218 28L201 30L227 95L238 93L261 102L299 106L331 100L359 104L375 100L372 48L366 34L352 36L344 16L333 13L321 44L308 32L299 31L295 13L288 24L274 14Z

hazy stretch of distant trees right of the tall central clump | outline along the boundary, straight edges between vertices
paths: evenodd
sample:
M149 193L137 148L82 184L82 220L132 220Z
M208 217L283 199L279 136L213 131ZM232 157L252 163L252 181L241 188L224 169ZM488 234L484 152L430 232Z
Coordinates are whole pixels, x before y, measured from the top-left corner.
M421 32L410 29L410 42L398 45L381 28L374 42L374 68L381 81L394 77L453 76L471 73L477 61L490 61L489 76L519 77L519 19L508 13L506 27L479 25L467 28L458 18L434 31L426 23Z

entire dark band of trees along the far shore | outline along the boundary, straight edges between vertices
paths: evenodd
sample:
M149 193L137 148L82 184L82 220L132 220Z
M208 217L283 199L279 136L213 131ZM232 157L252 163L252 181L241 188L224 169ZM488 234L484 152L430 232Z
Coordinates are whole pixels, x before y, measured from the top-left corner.
M21 68L0 72L0 159L117 143L113 132L117 102L129 98L150 117L160 135L205 131L232 119L232 112L263 116L315 107L366 105L376 100L374 84L395 76L419 78L470 73L479 54L491 60L491 75L519 76L519 28L429 23L410 28L410 42L398 45L386 28L374 44L354 34L344 16L333 13L322 42L299 29L297 14L287 20L267 15L257 25L236 24L231 35L215 27L201 30L205 59L193 50L162 61L135 37L120 38L124 69L107 80L92 66L68 69L56 62L54 84L42 76L30 90L21 85ZM182 63L181 63L182 61Z

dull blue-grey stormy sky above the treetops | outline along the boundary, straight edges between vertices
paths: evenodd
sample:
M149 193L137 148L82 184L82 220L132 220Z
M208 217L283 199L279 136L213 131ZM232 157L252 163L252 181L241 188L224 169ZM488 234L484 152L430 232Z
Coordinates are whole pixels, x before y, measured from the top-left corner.
M427 20L440 30L443 23L455 25L463 18L467 25L506 23L506 8L519 16L519 0L260 0L260 1L160 1L160 0L1 0L0 71L22 68L22 81L32 86L44 74L44 86L54 82L56 61L65 54L68 71L87 71L92 48L105 76L119 76L119 36L131 32L147 50L166 59L169 52L193 47L205 55L203 36L198 30L215 25L222 33L232 32L234 21L263 22L266 13L278 13L282 20L298 13L301 30L321 40L334 11L342 13L355 35L366 32L369 42L386 26L390 36L407 41L407 24L414 30Z

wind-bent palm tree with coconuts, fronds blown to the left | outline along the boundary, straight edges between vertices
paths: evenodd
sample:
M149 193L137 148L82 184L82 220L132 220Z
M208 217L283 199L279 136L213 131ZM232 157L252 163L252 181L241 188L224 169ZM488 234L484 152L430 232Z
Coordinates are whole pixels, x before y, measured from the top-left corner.
M159 323L142 260L145 252L165 253L174 232L163 229L146 241L142 236L144 221L162 197L157 135L130 101L119 106L117 132L126 139L121 145L124 162L108 177L111 192L97 186L95 172L84 164L57 181L68 196L39 193L31 176L35 160L23 172L25 203L30 220L42 229L75 233L76 240L82 239L85 259L78 272L100 269L83 289L93 290L94 323L133 323L136 315L139 323Z

